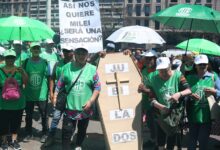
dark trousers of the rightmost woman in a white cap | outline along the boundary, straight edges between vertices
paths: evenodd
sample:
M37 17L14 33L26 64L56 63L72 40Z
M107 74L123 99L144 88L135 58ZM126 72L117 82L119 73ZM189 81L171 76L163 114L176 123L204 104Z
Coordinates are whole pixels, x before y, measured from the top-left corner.
M199 150L206 150L211 131L211 123L191 123L189 125L188 150L196 150L199 141Z

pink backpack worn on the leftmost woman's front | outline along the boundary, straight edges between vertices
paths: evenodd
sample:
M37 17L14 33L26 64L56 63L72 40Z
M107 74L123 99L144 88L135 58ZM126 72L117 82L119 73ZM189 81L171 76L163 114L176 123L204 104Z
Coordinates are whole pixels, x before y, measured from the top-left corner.
M2 98L6 101L18 100L21 97L21 92L18 82L14 78L15 73L11 77L8 77L5 72L4 74L6 75L7 79L5 80L2 88Z

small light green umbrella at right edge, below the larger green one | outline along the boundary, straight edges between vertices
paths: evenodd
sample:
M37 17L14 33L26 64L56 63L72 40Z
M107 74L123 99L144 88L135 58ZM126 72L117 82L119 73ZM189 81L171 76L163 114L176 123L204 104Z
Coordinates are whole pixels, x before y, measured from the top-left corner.
M206 39L190 39L179 43L176 47L192 52L220 56L220 46Z

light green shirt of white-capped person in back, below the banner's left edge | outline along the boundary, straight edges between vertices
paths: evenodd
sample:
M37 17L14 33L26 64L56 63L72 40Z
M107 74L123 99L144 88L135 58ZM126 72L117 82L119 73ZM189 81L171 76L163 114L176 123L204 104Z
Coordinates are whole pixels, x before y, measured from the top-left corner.
M50 75L52 75L54 65L60 60L59 56L55 52L47 53L46 51L44 51L40 54L40 57L47 60L51 68Z

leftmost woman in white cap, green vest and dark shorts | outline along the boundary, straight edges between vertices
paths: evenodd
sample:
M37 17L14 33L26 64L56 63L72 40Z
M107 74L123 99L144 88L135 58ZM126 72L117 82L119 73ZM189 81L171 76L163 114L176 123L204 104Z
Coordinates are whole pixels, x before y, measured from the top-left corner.
M17 141L17 133L21 126L22 113L25 108L25 96L23 85L27 83L27 74L21 67L14 65L16 53L13 50L6 50L4 52L5 66L0 69L0 92L2 93L4 84L7 78L14 78L20 90L20 97L18 99L6 100L2 94L0 96L0 136L3 137L2 149L8 149L7 135L11 135L12 146L14 149L21 149Z

